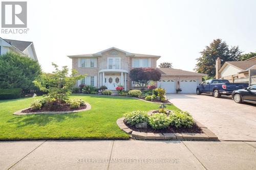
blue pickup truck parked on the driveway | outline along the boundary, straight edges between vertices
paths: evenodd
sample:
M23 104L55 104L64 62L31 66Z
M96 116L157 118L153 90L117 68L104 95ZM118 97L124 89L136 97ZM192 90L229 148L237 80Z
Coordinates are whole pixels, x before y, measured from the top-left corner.
M210 93L215 98L220 98L222 94L231 95L234 90L248 87L248 83L230 83L228 80L211 79L206 80L197 86L197 94Z

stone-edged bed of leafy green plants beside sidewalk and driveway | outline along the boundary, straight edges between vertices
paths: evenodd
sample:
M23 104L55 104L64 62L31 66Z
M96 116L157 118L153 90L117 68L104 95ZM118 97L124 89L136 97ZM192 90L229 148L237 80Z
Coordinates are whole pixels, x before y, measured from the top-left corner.
M139 139L218 140L218 137L196 122L188 112L166 110L133 111L117 120L120 129Z

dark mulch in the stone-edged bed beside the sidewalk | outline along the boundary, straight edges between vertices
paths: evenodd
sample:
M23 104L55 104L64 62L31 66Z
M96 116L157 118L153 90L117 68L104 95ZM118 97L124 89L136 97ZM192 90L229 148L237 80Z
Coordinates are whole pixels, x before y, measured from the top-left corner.
M194 124L192 128L176 128L175 126L169 126L166 129L152 129L150 125L147 125L147 129L138 129L134 126L129 124L124 124L129 127L130 129L138 132L152 132L152 133L203 133L201 128Z

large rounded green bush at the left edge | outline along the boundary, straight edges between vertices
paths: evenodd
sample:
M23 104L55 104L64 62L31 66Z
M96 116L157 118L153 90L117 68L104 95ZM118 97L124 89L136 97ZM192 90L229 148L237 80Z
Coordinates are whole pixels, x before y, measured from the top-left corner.
M0 88L34 89L33 81L41 74L37 61L15 53L0 56Z

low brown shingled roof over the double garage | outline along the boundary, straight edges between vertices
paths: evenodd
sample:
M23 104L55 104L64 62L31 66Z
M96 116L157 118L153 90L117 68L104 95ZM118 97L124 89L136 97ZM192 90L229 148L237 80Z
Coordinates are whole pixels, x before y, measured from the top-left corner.
M162 76L206 76L206 74L174 68L157 68Z

